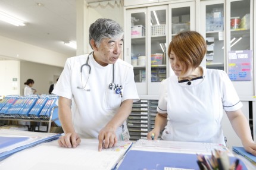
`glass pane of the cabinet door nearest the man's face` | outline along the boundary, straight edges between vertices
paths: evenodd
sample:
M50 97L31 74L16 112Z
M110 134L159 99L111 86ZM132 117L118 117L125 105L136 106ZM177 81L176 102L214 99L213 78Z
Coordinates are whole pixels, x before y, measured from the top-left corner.
M135 82L146 81L146 14L134 13L131 16L131 61L135 74Z

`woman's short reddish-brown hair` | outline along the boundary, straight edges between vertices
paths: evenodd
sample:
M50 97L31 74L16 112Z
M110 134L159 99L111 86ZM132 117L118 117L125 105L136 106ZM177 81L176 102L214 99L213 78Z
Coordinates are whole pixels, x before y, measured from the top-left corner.
M189 68L198 67L207 52L207 45L204 37L195 31L180 32L168 46L168 56L173 52L182 65L182 74Z

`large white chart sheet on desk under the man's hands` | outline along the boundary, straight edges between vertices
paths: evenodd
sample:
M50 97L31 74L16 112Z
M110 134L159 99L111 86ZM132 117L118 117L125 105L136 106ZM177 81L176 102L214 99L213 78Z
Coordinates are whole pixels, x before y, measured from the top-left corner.
M57 140L21 150L0 162L0 169L110 170L123 158L132 141L119 141L110 149L98 152L98 139L82 139L77 148L58 146Z

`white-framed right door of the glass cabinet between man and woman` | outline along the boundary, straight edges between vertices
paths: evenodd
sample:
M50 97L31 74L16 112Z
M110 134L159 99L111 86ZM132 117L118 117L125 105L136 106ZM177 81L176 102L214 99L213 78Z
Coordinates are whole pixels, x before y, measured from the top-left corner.
M160 82L168 76L166 56L168 5L148 7L148 94L158 95Z

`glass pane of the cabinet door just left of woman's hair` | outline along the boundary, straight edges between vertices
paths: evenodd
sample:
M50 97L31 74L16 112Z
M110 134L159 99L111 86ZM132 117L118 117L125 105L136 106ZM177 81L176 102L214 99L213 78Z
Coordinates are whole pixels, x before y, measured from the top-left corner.
M166 10L151 11L151 82L166 79Z

